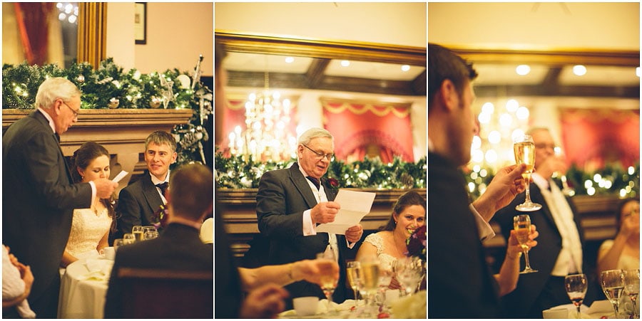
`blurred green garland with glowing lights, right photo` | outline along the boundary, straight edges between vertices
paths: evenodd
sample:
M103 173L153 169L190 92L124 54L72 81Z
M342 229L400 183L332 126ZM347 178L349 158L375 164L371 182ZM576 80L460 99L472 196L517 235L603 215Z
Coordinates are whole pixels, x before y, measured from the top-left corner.
M482 169L483 170L483 169ZM481 177L479 172L462 172L469 186L474 186L470 193L474 199L481 195L481 189L490 184L494 175L486 174ZM486 173L490 170L486 169ZM640 163L631 169L624 169L620 164L607 164L603 169L595 172L584 172L575 165L566 172L569 186L574 189L575 195L618 195L620 197L637 197L640 195ZM587 181L588 188L587 188ZM599 181L608 184L600 184Z

